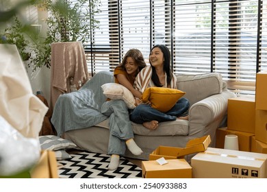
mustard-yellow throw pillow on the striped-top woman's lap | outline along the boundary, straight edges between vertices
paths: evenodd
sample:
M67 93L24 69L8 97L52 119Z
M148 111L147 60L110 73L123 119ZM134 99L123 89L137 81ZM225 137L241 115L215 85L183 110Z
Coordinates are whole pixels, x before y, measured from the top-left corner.
M176 88L149 87L144 91L142 101L144 103L150 101L152 108L167 112L185 94L185 92Z

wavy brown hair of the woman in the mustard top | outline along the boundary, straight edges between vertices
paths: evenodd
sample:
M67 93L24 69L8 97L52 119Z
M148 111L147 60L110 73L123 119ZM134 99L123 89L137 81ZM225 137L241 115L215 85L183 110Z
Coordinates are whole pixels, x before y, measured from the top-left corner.
M123 61L118 65L121 69L126 71L125 64L128 57L133 58L133 60L136 61L136 64L138 65L138 70L136 71L136 75L143 69L144 67L147 67L146 62L144 62L144 57L139 49L129 49L125 56L123 57Z

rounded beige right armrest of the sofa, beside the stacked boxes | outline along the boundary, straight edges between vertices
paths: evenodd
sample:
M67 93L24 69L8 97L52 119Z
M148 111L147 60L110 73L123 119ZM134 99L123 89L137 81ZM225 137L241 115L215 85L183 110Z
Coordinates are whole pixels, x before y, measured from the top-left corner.
M227 115L228 99L233 97L236 95L231 91L223 91L193 104L189 110L189 135L199 132L205 135L212 131L208 129L216 130Z

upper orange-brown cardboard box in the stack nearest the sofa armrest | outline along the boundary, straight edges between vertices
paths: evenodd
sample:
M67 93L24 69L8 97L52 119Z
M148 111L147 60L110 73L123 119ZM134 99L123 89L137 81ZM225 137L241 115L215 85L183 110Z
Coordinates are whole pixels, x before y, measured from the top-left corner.
M227 127L229 130L255 133L255 97L228 99Z

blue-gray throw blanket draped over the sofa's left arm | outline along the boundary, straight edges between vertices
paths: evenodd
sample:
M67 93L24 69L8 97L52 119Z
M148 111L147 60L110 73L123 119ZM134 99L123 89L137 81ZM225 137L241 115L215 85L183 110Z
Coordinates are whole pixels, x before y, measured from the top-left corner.
M68 130L89 128L107 119L101 114L101 106L107 97L101 85L114 82L113 73L101 71L86 82L79 91L60 95L55 103L51 123L58 136Z

